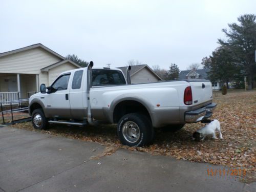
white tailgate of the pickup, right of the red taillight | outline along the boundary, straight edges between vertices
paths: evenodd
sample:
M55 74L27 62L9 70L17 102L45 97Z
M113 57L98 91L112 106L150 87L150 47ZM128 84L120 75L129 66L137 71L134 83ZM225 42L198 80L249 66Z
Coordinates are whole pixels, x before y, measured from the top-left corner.
M190 81L193 104L200 104L212 100L210 81Z

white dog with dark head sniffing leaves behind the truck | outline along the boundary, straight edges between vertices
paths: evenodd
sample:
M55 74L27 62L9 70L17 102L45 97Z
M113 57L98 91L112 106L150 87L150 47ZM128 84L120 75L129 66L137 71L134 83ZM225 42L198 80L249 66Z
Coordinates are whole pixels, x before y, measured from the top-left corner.
M211 121L209 124L202 127L200 130L196 131L193 134L193 140L196 140L196 141L204 140L205 136L207 135L212 135L212 138L218 139L215 135L216 130L220 134L220 139L223 139L221 134L221 124L217 119L215 119Z

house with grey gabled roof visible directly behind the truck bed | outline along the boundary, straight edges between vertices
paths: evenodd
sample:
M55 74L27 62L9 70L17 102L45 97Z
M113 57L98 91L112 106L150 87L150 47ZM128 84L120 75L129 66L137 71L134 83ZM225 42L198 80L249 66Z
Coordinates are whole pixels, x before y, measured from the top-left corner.
M157 82L162 81L161 77L159 77L150 67L147 65L137 65L131 66L130 76L131 82L136 83L146 83L146 82ZM121 69L125 78L127 67L119 67Z

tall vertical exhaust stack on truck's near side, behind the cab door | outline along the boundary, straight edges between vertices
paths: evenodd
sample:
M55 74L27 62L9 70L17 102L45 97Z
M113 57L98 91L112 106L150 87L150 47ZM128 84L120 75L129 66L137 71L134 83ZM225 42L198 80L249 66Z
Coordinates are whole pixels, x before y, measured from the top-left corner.
M92 87L92 67L93 61L90 61L87 66L87 120L90 125L96 125L97 121L93 121L92 113L91 113L91 103L90 103L90 89Z

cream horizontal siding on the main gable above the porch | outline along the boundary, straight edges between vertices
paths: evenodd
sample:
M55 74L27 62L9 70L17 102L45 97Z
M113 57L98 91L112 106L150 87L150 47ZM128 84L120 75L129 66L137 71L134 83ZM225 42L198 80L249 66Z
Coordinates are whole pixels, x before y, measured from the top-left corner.
M40 69L61 59L41 48L0 57L0 73L39 74Z

